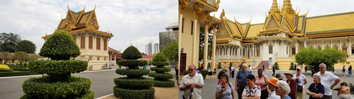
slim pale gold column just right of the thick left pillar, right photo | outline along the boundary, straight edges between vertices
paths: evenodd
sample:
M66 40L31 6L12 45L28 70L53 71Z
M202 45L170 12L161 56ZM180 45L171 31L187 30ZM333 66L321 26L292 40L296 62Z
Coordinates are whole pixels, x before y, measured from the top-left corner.
M204 28L204 68L206 69L207 64L208 64L208 38L209 38L209 27L210 27L210 22L205 21L205 28Z

